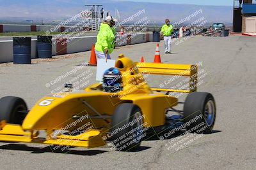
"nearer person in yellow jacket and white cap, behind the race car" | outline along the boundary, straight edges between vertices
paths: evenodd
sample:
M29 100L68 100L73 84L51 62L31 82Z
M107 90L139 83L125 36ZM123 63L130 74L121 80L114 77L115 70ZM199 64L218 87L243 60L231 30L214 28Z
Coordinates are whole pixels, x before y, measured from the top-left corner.
M113 52L115 34L113 34L113 17L108 16L100 25L100 31L97 35L97 42L95 44L95 54L98 59L111 59L109 53Z

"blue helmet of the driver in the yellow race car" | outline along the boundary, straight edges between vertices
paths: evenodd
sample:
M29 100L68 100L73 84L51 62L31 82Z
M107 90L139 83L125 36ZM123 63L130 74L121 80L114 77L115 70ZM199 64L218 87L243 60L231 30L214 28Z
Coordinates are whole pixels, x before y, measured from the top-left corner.
M122 74L117 68L111 67L105 71L102 87L106 92L118 92L123 89Z

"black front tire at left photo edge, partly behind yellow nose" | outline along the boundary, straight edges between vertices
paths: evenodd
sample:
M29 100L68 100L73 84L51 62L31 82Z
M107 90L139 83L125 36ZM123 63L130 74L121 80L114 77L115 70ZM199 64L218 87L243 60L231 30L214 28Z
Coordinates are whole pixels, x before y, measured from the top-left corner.
M0 121L6 120L8 124L21 125L27 113L27 104L20 97L6 96L0 99Z

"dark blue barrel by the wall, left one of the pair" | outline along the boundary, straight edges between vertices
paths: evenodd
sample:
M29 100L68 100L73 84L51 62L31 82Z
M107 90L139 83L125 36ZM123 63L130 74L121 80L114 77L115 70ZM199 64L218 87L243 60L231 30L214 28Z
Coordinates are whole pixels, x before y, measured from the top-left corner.
M13 37L13 64L31 64L31 37Z

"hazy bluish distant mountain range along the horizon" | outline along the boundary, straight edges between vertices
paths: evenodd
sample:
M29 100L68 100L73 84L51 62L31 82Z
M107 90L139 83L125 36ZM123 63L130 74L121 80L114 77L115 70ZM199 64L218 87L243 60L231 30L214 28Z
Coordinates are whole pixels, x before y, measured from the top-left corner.
M84 10L84 4L102 4L105 11L110 11L115 16L115 11L120 13L121 20L130 17L136 11L145 9L145 14L134 18L134 21L148 17L152 23L161 23L165 18L179 21L196 10L202 13L196 17L205 17L209 22L232 22L232 6L199 6L193 4L164 4L131 1L68 1L68 0L0 0L0 20L66 20L79 11ZM189 21L191 22L191 20Z

